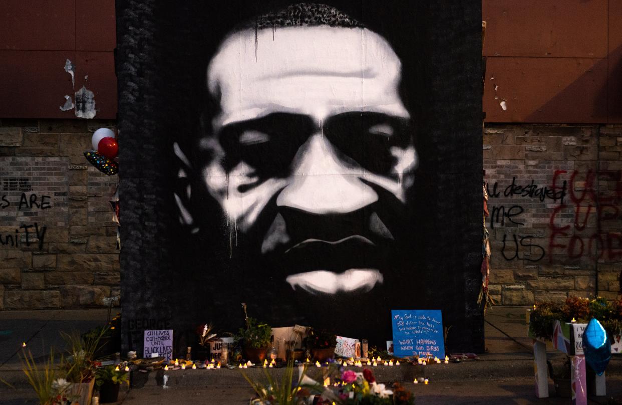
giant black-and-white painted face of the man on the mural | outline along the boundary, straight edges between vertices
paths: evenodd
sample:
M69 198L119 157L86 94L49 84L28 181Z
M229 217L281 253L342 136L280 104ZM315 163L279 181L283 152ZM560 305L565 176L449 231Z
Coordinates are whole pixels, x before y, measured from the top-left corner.
M270 277L311 294L386 282L417 166L400 80L391 46L362 27L241 30L211 59L220 113L197 170Z

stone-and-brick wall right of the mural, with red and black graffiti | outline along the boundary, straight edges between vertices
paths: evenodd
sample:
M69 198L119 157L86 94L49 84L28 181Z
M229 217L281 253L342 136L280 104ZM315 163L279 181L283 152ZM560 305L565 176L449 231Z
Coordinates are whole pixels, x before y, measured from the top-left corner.
M486 124L491 275L506 305L615 299L622 270L622 126Z

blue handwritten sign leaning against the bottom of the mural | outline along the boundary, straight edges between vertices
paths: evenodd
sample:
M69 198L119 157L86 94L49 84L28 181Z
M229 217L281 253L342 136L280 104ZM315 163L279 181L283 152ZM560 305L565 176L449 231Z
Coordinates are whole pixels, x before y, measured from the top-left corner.
M391 324L394 355L445 358L440 309L394 309Z

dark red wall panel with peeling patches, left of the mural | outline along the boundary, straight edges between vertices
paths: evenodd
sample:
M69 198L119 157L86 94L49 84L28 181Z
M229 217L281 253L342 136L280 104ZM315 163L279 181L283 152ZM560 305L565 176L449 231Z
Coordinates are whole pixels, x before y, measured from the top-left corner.
M95 94L95 118L116 118L115 27L114 0L3 0L0 117L76 118L60 106L85 86Z

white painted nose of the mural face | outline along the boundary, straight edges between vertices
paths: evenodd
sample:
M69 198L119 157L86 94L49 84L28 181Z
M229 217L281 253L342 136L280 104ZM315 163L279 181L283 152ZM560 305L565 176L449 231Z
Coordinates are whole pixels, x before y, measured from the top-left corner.
M362 174L360 166L342 161L322 134L314 134L297 152L277 205L316 214L353 212L378 200L378 194L361 181Z

